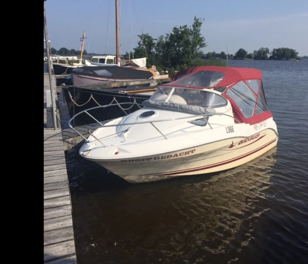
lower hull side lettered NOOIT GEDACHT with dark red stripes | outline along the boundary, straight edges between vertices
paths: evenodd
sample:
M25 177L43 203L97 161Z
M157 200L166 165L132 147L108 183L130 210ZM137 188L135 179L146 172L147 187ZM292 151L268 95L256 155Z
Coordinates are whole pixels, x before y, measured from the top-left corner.
M231 169L263 155L277 145L277 140L276 129L268 128L248 137L224 139L155 156L92 161L128 182L151 182Z

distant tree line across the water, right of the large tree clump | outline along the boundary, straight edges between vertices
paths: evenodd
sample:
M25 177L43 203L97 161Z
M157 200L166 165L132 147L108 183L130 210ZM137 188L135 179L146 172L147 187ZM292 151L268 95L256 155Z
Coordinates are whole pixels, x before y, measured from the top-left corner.
M220 53L208 52L206 54L200 54L201 59L227 59L227 54L224 51ZM281 59L305 59L304 57L299 57L298 52L290 48L275 48L272 51L269 48L261 47L258 50L253 51L253 53L248 53L243 48L240 48L234 55L229 54L228 58L230 59L255 59L255 60L281 60Z

